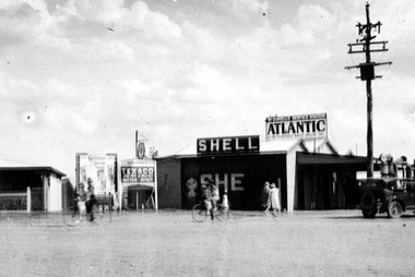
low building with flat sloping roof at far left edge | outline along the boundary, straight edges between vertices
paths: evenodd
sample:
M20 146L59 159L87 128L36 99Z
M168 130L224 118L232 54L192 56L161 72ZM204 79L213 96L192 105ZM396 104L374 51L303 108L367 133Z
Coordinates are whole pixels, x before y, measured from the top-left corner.
M0 159L0 210L62 210L62 177L52 167Z

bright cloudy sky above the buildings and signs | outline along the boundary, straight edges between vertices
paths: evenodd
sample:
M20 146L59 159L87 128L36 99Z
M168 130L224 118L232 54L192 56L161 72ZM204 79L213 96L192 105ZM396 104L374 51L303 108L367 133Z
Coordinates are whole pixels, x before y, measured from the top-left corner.
M415 158L415 3L372 0L375 156ZM74 176L75 153L162 156L197 137L264 135L270 115L327 112L366 155L364 62L347 44L366 1L1 0L0 157Z

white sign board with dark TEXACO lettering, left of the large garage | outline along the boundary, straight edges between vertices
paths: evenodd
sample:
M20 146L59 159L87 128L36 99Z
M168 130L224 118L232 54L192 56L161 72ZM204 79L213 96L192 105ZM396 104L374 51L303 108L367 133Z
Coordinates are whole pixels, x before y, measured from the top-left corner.
M121 161L122 185L155 186L156 164L149 159L130 159Z

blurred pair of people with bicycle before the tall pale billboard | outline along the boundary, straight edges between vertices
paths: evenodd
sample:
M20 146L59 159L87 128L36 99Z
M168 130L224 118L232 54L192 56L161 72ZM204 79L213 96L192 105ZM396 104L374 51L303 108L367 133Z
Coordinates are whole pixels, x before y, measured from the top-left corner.
M83 216L86 215L88 216L88 220L93 221L93 206L96 203L95 190L91 178L88 178L86 182L87 190L85 190L84 183L80 183L75 201L78 209L80 212L80 219L82 220Z

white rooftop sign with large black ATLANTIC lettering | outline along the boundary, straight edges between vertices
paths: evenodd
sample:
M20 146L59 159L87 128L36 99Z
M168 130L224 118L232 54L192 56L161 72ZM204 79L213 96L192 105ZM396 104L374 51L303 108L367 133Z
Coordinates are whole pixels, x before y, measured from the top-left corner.
M268 117L265 130L266 137L327 138L327 115Z

